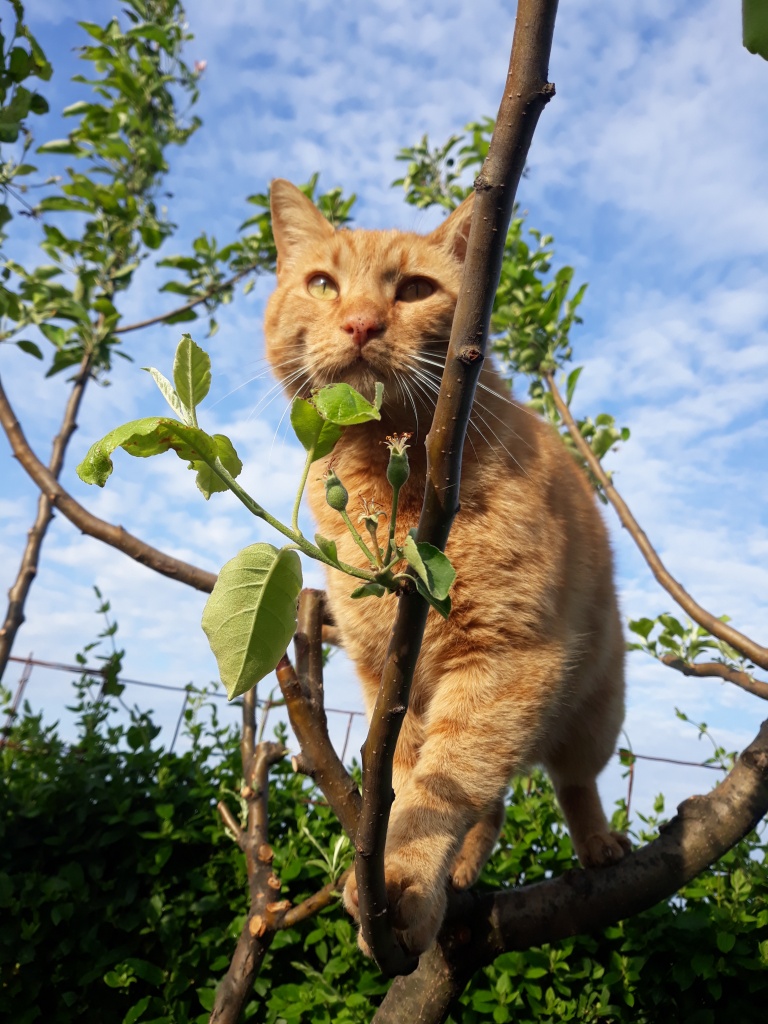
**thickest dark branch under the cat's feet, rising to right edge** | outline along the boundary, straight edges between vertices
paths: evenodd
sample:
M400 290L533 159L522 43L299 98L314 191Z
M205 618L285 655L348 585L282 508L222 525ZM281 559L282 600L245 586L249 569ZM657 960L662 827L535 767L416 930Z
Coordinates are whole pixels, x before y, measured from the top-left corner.
M510 892L456 896L438 944L418 971L398 978L376 1024L440 1024L479 968L528 949L605 928L668 899L739 840L768 812L768 721L729 775L705 797L691 797L658 839L612 867L572 870Z

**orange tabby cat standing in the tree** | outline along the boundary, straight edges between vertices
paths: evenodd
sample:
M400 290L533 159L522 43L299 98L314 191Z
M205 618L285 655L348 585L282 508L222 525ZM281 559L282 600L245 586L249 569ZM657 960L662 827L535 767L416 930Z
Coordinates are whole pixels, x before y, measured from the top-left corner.
M346 381L369 397L383 381L380 423L344 432L334 468L350 496L388 510L387 434L411 431L411 478L397 539L415 526L429 428L451 333L471 199L425 237L336 231L288 181L271 188L278 287L267 355L289 395ZM407 949L425 950L443 919L446 884L477 879L496 843L510 776L549 771L585 865L618 860L595 779L624 717L624 639L605 526L582 471L552 428L505 396L486 364L468 433L461 511L446 553L458 577L447 622L430 611L394 758L385 873ZM341 517L309 484L319 532L360 561ZM397 599L351 600L330 570L328 594L369 712ZM354 877L345 891L356 915Z

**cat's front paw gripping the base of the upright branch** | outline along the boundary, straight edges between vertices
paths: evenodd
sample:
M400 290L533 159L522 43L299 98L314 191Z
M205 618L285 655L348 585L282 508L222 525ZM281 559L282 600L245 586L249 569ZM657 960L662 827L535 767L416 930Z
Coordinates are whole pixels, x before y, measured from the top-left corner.
M434 942L445 915L445 887L430 886L407 866L389 859L385 863L384 876L390 921L397 941L407 952L420 956ZM344 906L359 922L359 898L354 872L349 876L344 887ZM357 945L367 956L371 955L361 932L357 935Z

